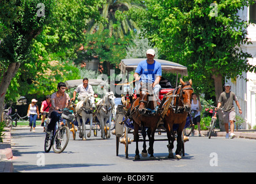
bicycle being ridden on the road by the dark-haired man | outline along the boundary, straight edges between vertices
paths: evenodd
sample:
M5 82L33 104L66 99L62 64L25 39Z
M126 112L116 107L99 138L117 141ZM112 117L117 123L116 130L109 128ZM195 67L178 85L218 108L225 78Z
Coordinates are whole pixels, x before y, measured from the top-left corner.
M59 110L60 112L62 110ZM58 123L58 125L57 125ZM69 143L69 128L63 123L63 118L59 118L56 122L56 127L54 131L51 131L51 134L47 133L46 127L46 139L44 140L44 151L49 152L51 147L53 151L57 154L60 154L67 147Z

